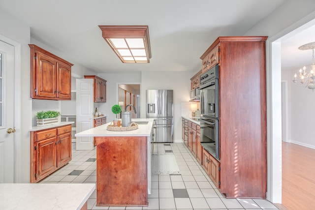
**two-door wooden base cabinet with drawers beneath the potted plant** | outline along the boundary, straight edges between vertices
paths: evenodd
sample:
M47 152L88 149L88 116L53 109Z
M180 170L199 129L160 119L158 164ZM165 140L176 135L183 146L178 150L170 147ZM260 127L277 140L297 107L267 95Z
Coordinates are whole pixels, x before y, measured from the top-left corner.
M67 164L71 152L71 124L31 131L31 183Z

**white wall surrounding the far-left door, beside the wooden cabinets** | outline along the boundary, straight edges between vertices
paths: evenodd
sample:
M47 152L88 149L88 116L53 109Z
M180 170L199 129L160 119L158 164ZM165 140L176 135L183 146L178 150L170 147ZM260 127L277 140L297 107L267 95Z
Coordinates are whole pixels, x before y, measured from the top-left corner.
M30 27L0 9L0 39L8 38L21 47L20 63L15 66L15 163L16 182L30 182L30 128L32 99L30 98ZM11 43L10 43L11 44ZM22 176L23 175L23 176Z

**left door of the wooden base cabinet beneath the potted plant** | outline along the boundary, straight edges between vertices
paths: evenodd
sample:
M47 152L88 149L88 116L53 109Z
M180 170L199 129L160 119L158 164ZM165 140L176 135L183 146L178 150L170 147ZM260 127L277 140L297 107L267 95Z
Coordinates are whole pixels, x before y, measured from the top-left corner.
M57 168L57 137L36 142L36 180L42 179Z

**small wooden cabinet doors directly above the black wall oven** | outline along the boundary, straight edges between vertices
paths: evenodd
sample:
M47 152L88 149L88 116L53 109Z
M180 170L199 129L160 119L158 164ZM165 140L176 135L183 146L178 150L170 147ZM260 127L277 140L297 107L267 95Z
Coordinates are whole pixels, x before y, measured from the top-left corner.
M200 57L202 60L202 73L206 72L214 65L220 63L220 43L215 46L211 46L208 50Z

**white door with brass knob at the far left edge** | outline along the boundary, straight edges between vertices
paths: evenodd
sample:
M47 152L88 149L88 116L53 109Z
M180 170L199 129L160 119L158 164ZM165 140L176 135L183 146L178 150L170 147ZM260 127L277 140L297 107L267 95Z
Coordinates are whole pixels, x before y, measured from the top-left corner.
M0 41L0 183L14 182L14 47Z

